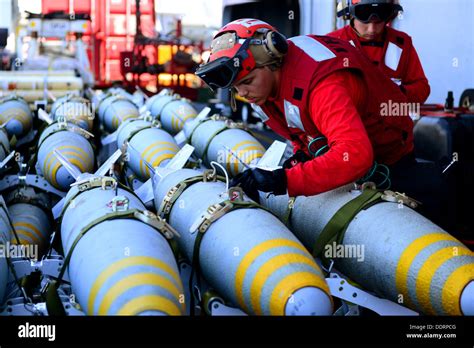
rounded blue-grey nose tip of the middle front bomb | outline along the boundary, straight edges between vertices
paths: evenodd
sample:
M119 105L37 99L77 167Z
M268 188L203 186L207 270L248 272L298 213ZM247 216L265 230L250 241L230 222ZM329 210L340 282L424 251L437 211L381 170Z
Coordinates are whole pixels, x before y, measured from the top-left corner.
M321 289L305 287L290 296L285 315L332 315L332 302Z

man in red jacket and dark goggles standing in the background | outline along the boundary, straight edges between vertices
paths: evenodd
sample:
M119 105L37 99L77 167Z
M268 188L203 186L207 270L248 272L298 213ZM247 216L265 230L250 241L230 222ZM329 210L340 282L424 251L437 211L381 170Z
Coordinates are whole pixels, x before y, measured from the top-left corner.
M400 86L411 103L424 103L430 85L411 37L388 26L403 8L398 0L348 0L338 16L350 24L328 36L349 41Z

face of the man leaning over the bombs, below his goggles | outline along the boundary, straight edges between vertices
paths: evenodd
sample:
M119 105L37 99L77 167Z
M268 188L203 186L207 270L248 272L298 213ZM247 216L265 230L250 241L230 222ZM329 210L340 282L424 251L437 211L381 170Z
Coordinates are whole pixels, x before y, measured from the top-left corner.
M254 69L234 84L238 95L250 103L262 105L276 92L276 73L268 67Z

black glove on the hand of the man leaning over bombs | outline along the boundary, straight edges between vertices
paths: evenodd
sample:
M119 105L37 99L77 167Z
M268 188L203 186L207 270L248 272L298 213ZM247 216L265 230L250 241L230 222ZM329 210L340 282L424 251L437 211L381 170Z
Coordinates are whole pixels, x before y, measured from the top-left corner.
M273 171L260 168L247 169L234 177L229 186L240 186L247 196L258 203L260 201L258 191L272 192L275 195L286 193L286 173L284 169Z

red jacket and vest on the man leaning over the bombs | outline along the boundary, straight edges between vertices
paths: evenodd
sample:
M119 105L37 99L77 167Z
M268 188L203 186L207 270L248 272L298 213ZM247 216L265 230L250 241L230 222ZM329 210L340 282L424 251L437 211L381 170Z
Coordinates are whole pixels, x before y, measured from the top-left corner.
M308 35L289 40L276 98L253 107L270 128L292 140L295 152L308 153L311 139L327 138L327 153L286 170L289 195L310 196L361 178L374 158L393 164L413 151L411 118L382 116L406 102L350 44Z

